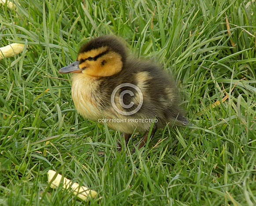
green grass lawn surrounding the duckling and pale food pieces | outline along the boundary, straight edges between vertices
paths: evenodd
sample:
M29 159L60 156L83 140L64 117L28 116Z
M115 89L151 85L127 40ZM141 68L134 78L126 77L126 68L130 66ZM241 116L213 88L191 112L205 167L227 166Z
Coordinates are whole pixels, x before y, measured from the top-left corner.
M256 205L255 1L15 4L0 5L0 47L28 47L0 60L0 205L83 205L49 169L96 190L89 205ZM76 113L58 70L109 33L175 77L194 126L119 153L119 132Z

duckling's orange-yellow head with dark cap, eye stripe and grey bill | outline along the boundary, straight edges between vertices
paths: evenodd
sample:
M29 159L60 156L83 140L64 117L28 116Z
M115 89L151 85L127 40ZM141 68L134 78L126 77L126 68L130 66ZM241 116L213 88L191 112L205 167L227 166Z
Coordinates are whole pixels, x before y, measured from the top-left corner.
M83 73L92 77L109 77L119 73L126 62L126 47L117 37L102 36L84 44L77 60L59 73Z

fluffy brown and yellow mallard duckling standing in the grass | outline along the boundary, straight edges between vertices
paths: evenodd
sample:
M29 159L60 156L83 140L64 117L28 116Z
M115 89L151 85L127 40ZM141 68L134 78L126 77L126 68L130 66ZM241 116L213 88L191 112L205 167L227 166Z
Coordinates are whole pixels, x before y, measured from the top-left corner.
M59 73L75 73L71 93L79 114L105 121L123 133L125 143L134 131L145 132L138 149L145 145L152 121L151 135L168 123L188 124L174 81L152 62L129 57L118 37L90 40L80 48L77 60ZM121 143L117 146L120 149Z

